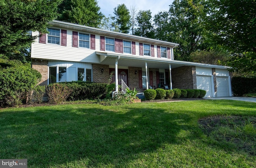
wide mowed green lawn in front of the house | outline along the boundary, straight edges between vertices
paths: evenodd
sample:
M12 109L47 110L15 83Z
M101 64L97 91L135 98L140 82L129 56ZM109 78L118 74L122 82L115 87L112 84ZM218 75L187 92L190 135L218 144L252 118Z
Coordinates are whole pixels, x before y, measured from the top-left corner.
M26 158L29 168L256 167L255 155L204 134L198 120L216 115L256 116L256 103L195 100L2 109L0 158Z

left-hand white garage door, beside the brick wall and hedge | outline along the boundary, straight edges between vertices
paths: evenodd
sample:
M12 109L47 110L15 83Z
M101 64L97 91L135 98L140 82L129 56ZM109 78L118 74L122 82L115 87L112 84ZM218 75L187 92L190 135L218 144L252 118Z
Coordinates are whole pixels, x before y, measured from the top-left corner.
M211 76L196 75L197 89L206 90L205 97L212 97L212 82Z

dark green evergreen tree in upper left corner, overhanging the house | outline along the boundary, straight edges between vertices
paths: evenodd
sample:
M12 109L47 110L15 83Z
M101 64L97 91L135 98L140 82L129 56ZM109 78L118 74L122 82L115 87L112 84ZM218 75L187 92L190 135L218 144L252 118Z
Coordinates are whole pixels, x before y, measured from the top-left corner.
M0 55L11 60L30 60L29 48L36 36L31 31L46 33L54 20L61 0L1 0Z

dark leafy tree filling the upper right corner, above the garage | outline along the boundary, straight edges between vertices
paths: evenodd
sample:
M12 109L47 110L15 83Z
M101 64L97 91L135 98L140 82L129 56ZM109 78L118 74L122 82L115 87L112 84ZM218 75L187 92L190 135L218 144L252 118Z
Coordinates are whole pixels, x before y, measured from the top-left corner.
M211 38L232 51L228 65L256 72L256 1L209 0L207 28Z

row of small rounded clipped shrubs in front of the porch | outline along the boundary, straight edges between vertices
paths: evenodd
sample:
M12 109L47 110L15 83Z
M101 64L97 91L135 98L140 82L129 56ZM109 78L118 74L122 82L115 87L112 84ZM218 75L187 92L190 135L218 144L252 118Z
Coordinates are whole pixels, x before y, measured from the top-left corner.
M205 90L200 89L172 89L164 90L158 88L144 91L146 100L170 99L170 98L203 98L206 95Z

